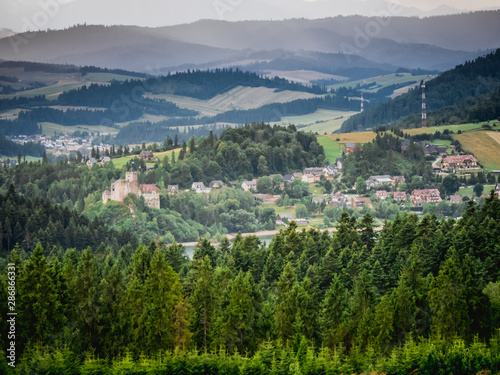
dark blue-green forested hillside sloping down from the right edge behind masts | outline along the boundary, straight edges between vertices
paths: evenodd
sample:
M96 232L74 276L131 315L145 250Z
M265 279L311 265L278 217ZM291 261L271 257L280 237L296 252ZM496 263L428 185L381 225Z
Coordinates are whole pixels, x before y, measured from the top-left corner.
M434 111L471 98L488 97L500 88L500 49L474 61L458 65L440 76L426 82L426 102L428 117ZM382 103L346 120L341 132L360 131L388 124L421 112L421 90L411 90L393 100ZM442 117L441 117L442 118ZM420 125L418 118L407 127ZM429 119L430 126L435 125ZM462 119L471 121L475 119ZM486 119L490 120L490 119Z

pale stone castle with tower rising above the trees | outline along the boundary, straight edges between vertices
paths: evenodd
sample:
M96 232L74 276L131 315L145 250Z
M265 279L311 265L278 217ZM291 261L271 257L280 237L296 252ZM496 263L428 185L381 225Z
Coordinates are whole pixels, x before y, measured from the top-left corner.
M147 205L151 208L160 208L160 188L156 185L139 185L137 183L137 172L125 173L125 179L116 180L111 184L110 190L102 193L102 203L109 200L121 202L129 194L144 197Z

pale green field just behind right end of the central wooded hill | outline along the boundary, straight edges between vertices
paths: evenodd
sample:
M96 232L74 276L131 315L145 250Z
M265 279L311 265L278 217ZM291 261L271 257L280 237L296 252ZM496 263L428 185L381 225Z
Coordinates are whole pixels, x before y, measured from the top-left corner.
M278 125L294 124L299 130L318 134L330 134L340 129L342 123L358 112L335 111L330 109L318 109L314 113L303 116L286 116Z

